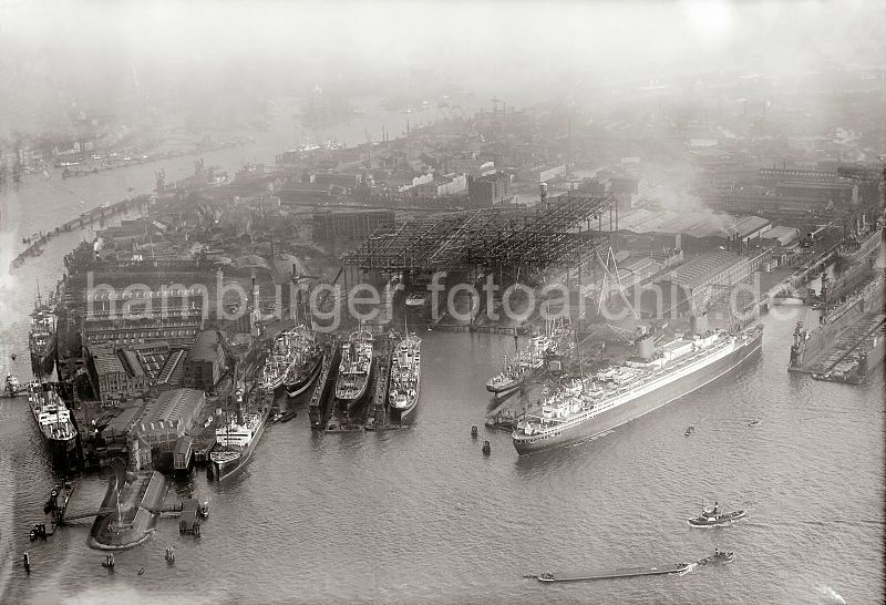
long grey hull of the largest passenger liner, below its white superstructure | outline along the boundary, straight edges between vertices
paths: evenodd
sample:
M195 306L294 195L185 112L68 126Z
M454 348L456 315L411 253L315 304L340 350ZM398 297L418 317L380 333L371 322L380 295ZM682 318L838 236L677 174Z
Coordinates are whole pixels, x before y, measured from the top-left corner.
M725 356L661 387L642 393L620 406L606 410L593 418L565 429L552 429L534 435L513 435L514 448L519 455L532 454L569 445L614 430L621 424L647 414L658 408L691 393L696 389L713 382L735 369L742 361L760 351L762 330L748 341L739 345Z

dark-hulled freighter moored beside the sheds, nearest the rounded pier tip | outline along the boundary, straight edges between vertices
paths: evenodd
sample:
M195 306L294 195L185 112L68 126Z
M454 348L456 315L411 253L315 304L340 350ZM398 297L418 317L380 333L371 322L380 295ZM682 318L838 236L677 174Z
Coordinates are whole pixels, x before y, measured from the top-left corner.
M243 386L238 384L235 402L240 410L244 408L244 397ZM224 427L215 430L216 443L209 452L208 469L214 481L222 481L246 464L261 439L269 410L268 407L258 413L246 413L239 420L229 418Z

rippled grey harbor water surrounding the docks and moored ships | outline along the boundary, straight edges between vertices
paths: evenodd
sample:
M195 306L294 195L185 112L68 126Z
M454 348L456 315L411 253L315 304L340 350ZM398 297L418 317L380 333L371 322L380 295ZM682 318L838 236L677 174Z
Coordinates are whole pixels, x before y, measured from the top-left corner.
M275 140L215 152L207 163L233 172L253 156L271 161L285 146ZM188 172L188 158L169 162ZM156 167L72 180L73 194L53 197L55 185L37 184L0 195L4 212L13 207L20 238L79 214L80 198L92 207L125 197L130 186L137 189L128 195L150 189ZM29 376L35 279L54 284L64 253L82 236L53 239L2 278L7 371ZM803 307L795 312L815 319ZM513 339L421 334L422 392L411 429L312 434L300 403L303 413L269 427L231 479L214 484L197 472L175 484L183 495L209 499L199 539L179 536L177 522L162 519L147 543L116 555L113 574L101 566L103 553L86 546L89 524L28 541L60 478L27 401L2 399L0 601L878 602L883 367L859 387L789 373L796 318L764 316L762 353L730 377L595 441L527 458L516 455L508 434L483 428L491 403L484 383ZM10 352L18 352L14 362ZM477 439L472 424L481 427ZM690 424L696 432L684 437ZM486 439L490 457L481 452ZM748 517L690 529L702 499L744 507ZM174 566L164 561L167 545ZM522 577L692 562L714 547L734 551L736 561L683 576L563 586Z

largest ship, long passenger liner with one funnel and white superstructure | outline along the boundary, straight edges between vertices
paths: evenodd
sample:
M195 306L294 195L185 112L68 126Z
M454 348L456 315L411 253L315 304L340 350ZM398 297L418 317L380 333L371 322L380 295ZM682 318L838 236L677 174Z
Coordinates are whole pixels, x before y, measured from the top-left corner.
M573 382L527 412L512 434L521 455L605 433L720 378L760 350L763 327L708 331L653 349L637 340L638 358Z

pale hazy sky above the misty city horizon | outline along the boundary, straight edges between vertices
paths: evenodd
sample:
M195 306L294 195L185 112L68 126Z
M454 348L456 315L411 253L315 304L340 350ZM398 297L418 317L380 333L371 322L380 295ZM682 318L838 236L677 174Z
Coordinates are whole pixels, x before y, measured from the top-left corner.
M131 85L300 88L414 70L465 88L594 82L600 73L882 62L882 1L0 0L0 110Z

